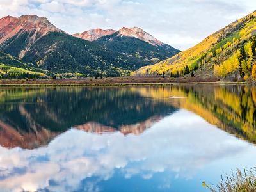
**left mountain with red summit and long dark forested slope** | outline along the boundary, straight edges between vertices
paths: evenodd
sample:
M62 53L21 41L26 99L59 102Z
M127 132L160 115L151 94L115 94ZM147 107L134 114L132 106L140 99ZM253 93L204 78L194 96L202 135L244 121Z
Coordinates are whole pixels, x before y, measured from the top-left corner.
M148 65L134 56L68 35L44 17L23 15L0 20L0 51L51 72L120 76Z

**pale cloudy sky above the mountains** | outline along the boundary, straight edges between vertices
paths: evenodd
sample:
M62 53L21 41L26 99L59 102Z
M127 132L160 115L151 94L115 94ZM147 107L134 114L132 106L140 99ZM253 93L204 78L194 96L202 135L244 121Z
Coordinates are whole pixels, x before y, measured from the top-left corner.
M255 0L0 0L0 17L47 17L69 34L137 26L180 50L254 10Z

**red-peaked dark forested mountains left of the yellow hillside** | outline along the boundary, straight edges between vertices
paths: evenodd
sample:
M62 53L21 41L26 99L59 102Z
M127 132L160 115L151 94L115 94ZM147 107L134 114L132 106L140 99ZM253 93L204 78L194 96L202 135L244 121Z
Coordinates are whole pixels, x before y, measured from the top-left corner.
M88 76L129 74L180 52L140 28L94 29L72 36L36 15L0 19L0 51L49 72Z

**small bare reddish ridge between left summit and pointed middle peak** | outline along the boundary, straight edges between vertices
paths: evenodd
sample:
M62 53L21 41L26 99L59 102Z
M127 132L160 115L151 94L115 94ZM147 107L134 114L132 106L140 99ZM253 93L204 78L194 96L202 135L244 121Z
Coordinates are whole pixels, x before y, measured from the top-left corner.
M102 36L112 35L113 33L116 33L116 31L112 30L112 29L107 29L107 30L92 29L92 30L89 30L89 31L84 31L83 33L76 33L72 36L77 37L77 38L83 38L84 40L88 40L90 42L93 42L93 41L99 39Z

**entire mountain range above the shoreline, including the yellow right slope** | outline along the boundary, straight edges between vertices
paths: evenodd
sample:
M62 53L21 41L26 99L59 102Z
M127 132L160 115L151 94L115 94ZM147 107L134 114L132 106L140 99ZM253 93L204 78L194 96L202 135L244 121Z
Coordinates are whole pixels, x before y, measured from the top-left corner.
M1 77L165 74L250 81L256 80L256 12L182 52L138 27L68 35L44 17L7 16L0 19L0 51Z

